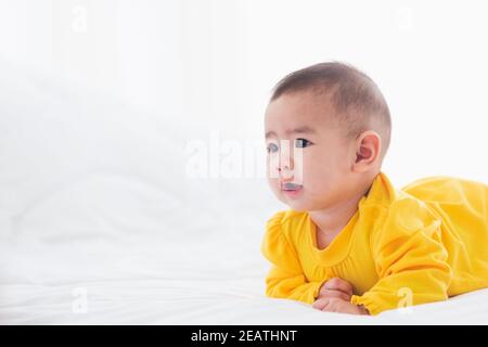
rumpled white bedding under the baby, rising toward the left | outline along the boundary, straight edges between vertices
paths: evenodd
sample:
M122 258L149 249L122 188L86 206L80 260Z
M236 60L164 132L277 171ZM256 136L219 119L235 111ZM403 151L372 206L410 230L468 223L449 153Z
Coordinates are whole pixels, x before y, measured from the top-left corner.
M265 297L283 206L262 178L188 177L185 143L209 129L0 75L1 324L488 323L488 291L378 317Z

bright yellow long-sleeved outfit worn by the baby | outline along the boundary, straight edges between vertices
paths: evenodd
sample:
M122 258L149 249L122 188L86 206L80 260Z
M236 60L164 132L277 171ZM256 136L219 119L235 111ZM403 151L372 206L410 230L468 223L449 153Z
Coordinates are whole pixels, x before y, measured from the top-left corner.
M313 303L331 278L354 285L371 314L488 287L488 187L433 177L395 190L381 172L347 226L324 249L308 213L267 223L272 264L266 294Z

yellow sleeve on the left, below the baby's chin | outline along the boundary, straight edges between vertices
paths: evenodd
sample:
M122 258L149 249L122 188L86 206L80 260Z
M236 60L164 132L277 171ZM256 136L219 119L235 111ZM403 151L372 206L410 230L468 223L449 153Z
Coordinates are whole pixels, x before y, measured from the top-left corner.
M282 232L284 213L275 214L267 223L262 255L271 262L266 278L266 295L312 304L322 282L308 282L293 245Z

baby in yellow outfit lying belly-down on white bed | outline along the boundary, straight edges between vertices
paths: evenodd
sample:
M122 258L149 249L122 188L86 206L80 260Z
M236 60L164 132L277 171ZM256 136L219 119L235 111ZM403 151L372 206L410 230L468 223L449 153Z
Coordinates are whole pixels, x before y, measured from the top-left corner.
M488 287L488 187L449 177L396 190L376 85L338 62L284 77L266 111L268 181L291 207L267 223L270 297L354 314Z

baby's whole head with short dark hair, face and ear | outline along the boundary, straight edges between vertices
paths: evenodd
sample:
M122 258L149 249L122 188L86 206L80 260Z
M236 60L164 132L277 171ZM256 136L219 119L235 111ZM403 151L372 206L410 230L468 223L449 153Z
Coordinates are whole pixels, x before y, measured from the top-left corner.
M265 129L271 190L293 209L311 211L364 195L381 170L391 120L371 78L330 62L275 86Z

